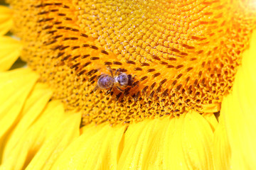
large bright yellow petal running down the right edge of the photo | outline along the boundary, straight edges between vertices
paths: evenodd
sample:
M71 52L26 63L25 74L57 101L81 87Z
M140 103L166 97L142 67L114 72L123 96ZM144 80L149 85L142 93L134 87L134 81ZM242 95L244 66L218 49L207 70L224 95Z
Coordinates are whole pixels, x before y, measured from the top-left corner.
M250 45L220 113L230 142L232 169L256 169L256 32Z

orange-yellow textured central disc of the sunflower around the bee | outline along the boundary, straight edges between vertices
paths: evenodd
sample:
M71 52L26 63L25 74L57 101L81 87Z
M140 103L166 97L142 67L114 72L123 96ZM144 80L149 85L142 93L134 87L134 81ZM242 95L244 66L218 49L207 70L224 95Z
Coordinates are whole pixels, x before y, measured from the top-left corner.
M250 1L10 3L21 58L82 125L219 111L256 26ZM107 67L133 86L94 91Z

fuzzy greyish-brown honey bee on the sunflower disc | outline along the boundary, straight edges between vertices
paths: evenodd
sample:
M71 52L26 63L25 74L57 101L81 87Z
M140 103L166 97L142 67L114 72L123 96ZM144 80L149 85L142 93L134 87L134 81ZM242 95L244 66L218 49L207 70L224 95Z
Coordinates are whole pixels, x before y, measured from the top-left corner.
M100 89L110 89L109 92L117 87L119 91L124 91L121 88L132 86L134 82L134 77L131 74L126 74L122 72L122 69L117 69L113 74L113 70L110 67L107 67L110 71L110 74L102 74L97 80L97 85L95 90Z

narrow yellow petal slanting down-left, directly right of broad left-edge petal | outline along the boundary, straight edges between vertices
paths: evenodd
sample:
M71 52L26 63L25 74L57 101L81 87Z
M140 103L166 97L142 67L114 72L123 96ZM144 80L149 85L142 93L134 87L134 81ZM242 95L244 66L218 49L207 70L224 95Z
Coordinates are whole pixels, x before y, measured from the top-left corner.
M11 152L18 141L21 139L22 135L31 128L31 125L40 116L46 104L50 100L52 92L46 89L43 84L36 84L31 95L26 100L23 110L21 111L20 120L12 132L9 133L9 137L6 140L5 152Z

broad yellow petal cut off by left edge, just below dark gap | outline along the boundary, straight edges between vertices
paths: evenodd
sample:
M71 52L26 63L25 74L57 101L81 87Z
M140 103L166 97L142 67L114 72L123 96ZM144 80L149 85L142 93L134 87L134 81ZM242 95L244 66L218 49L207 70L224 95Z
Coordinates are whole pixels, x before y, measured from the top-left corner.
M0 141L16 122L38 75L29 69L0 73Z

